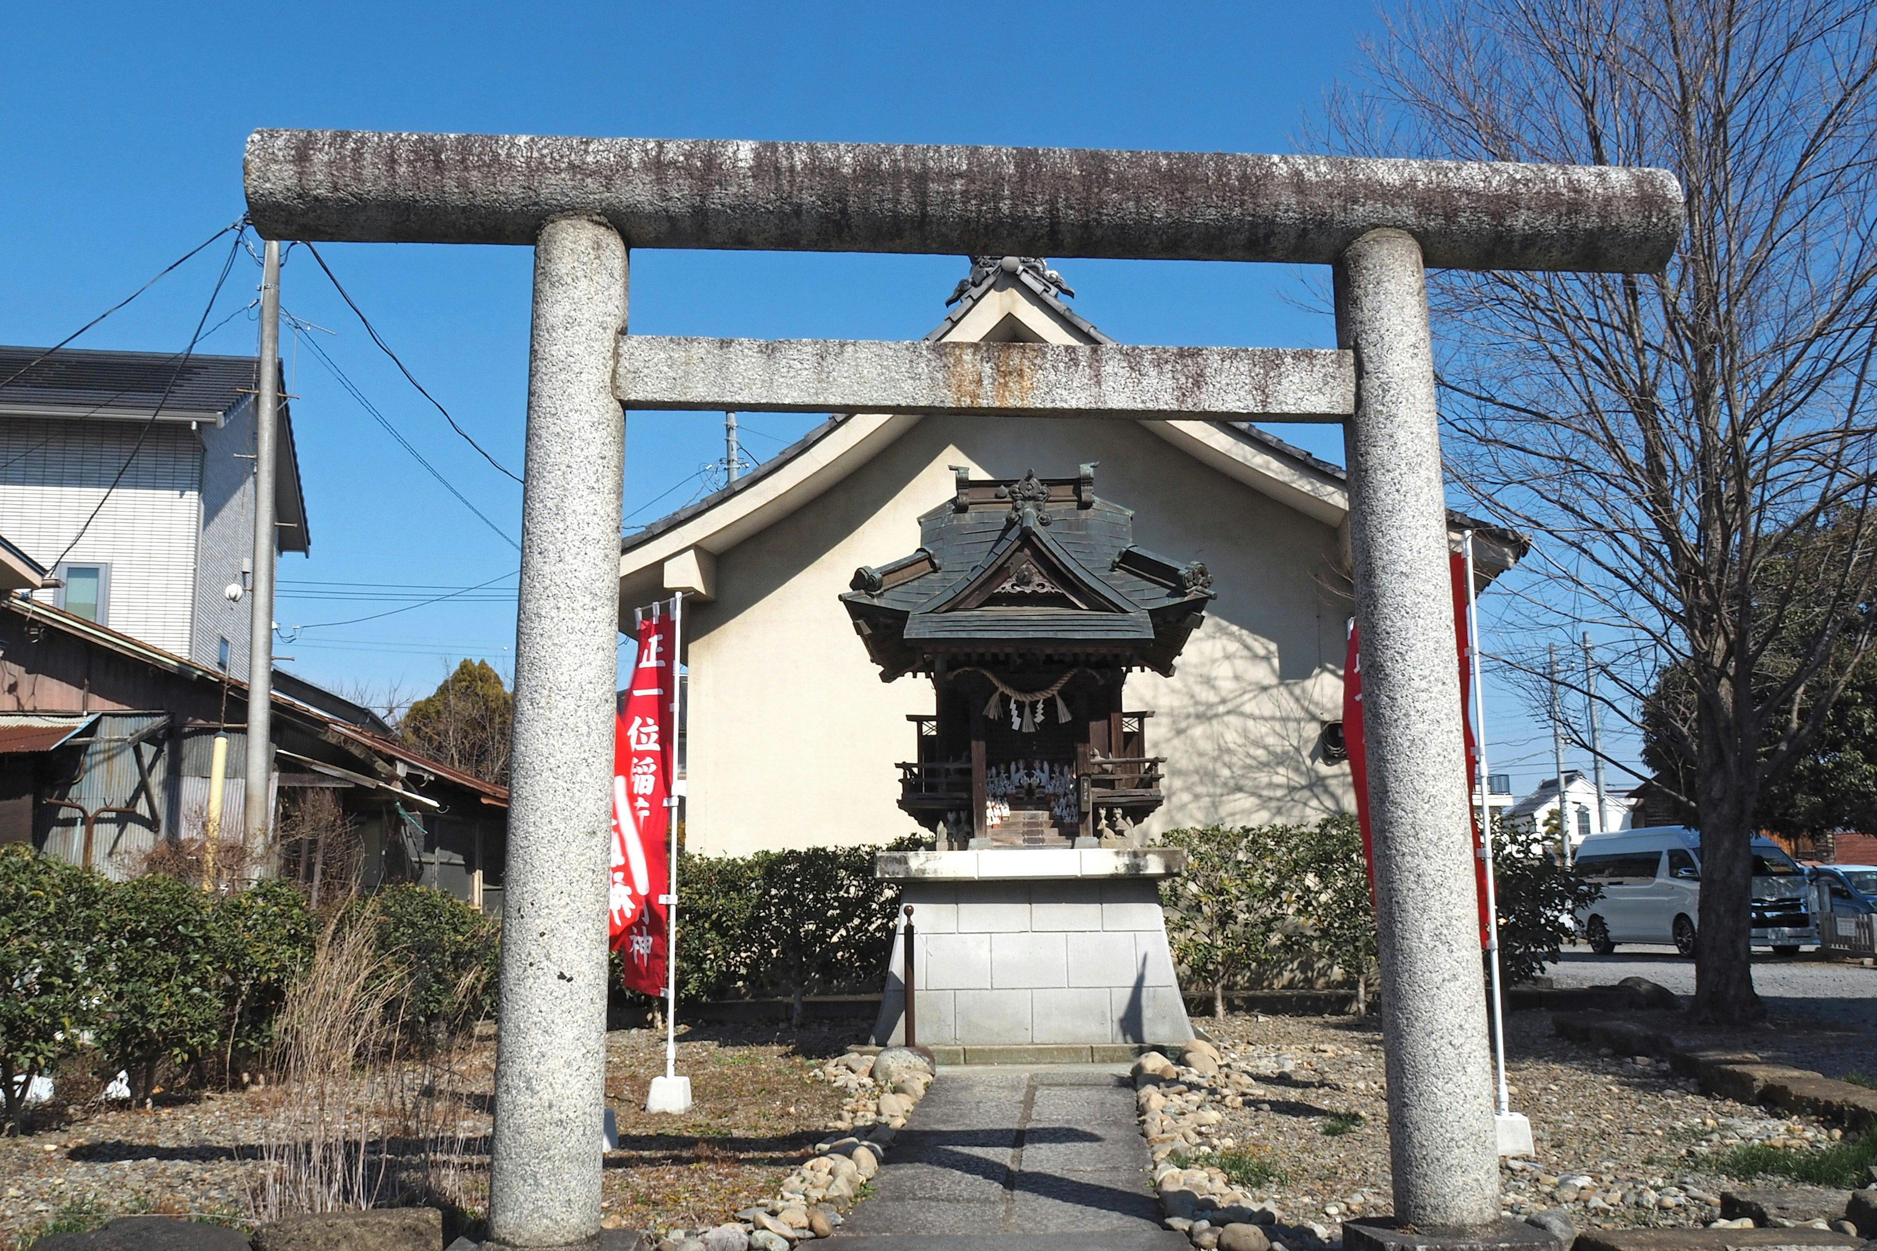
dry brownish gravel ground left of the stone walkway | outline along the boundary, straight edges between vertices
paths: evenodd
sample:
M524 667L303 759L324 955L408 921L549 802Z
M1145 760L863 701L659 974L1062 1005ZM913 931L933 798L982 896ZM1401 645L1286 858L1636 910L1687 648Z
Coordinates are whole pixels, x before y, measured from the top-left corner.
M681 1032L678 1071L691 1075L694 1107L678 1118L642 1110L651 1077L664 1071L663 1033L610 1033L606 1099L618 1114L619 1152L606 1155L606 1223L698 1227L775 1195L832 1125L852 1123L845 1092L816 1077L852 1032L847 1024ZM477 1043L456 1065L471 1215L486 1193L494 1056L492 1041ZM148 1112L86 1103L54 1108L24 1138L0 1138L0 1249L30 1245L60 1213L90 1212L101 1223L160 1212L252 1225L259 1165L242 1153L244 1146L253 1152L270 1093L160 1097Z

